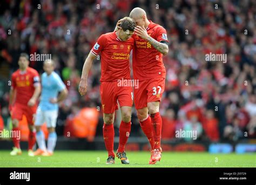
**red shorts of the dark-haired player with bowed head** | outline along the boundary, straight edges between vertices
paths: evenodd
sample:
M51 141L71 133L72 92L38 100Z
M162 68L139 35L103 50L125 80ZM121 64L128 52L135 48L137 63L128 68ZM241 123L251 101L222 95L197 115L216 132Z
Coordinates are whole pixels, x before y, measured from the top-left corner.
M100 84L100 98L105 114L114 113L118 109L117 100L120 107L132 107L132 87L118 86L117 81L103 81Z

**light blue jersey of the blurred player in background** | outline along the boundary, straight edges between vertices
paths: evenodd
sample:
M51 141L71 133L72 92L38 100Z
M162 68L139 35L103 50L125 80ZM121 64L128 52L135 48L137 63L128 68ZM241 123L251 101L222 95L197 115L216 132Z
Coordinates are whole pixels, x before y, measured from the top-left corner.
M42 111L58 110L58 104L52 104L51 98L57 98L58 92L65 89L65 84L56 72L52 72L49 76L46 72L42 74L42 93L39 107Z

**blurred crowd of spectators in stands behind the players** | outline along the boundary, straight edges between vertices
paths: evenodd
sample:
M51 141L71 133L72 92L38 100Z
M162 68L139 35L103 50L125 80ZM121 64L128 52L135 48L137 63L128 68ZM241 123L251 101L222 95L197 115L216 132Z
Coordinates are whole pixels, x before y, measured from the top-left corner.
M1 80L10 80L21 52L50 53L69 90L57 123L58 135L63 135L66 120L72 120L82 107L101 106L100 60L93 63L86 95L80 97L77 91L87 54L102 33L113 31L117 21L137 6L164 26L170 43L163 57L167 74L160 106L163 140L176 139L179 129L197 131L199 140L213 142L256 138L253 0L3 0ZM227 62L206 61L210 52L227 54ZM42 61L31 61L30 66L43 72ZM6 126L9 89L3 89L0 109ZM96 135L102 135L102 115ZM131 136L143 136L134 108Z

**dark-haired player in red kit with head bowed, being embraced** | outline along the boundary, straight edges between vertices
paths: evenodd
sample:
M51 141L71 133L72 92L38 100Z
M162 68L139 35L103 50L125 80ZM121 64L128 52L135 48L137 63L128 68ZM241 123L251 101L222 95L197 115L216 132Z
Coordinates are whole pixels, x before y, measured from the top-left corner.
M122 85L120 80L131 80L130 51L133 49L134 39L131 38L136 24L126 17L120 24L117 32L101 35L85 60L79 93L84 95L87 89L87 76L93 59L100 53L102 74L100 78L100 97L103 108L103 137L109 157L107 164L114 163L114 111L118 108L117 100L122 113L122 122L119 127L119 147L117 157L124 164L129 164L125 153L125 144L131 130L132 87Z

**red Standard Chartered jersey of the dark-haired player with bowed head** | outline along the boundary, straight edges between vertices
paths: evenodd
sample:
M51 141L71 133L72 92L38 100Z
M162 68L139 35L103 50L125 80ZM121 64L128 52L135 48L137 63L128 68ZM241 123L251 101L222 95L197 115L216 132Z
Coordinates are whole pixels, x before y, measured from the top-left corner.
M116 32L101 35L91 49L96 56L100 53L102 76L100 81L117 81L131 79L130 52L133 49L134 39L120 40Z

